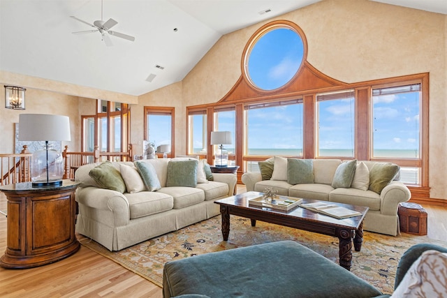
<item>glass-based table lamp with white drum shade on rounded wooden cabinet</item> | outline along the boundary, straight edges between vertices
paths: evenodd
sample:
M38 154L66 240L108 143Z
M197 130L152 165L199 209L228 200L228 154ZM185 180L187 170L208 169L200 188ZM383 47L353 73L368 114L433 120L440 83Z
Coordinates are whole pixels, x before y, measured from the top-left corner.
M45 141L42 150L31 157L33 187L59 186L64 177L64 159L48 141L70 141L70 119L50 114L20 114L20 141Z

